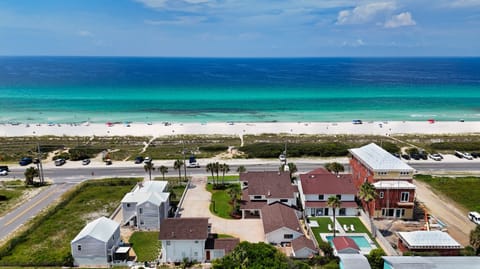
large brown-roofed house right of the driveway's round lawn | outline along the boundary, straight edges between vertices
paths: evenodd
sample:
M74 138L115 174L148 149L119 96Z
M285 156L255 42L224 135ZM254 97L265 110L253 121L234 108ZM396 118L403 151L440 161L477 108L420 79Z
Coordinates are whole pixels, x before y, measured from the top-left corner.
M240 174L242 217L260 216L265 205L275 202L297 206L298 189L292 184L290 173L265 171Z

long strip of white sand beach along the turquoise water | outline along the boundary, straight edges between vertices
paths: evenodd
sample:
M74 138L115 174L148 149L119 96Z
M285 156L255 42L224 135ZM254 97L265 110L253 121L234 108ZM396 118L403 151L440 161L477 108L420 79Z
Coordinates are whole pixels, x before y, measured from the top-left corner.
M0 124L0 136L402 135L480 133L480 121Z

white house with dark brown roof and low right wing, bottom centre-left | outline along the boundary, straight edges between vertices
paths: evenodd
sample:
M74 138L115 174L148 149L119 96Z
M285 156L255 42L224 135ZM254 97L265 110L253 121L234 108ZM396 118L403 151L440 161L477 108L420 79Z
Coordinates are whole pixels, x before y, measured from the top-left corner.
M164 263L207 262L222 258L239 243L237 238L216 238L210 234L208 218L168 218L160 224Z

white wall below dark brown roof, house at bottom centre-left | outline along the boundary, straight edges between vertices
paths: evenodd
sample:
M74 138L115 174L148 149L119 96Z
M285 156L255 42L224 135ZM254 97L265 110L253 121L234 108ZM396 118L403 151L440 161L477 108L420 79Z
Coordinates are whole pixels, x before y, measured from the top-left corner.
M162 240L162 262L205 261L205 240Z

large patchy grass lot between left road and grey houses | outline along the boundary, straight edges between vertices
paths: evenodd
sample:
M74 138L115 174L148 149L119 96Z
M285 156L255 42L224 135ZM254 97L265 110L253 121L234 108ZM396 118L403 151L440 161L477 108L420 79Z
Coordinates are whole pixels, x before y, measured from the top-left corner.
M0 248L2 266L68 265L70 241L87 221L109 216L139 179L87 181Z

